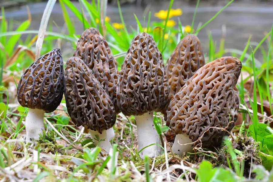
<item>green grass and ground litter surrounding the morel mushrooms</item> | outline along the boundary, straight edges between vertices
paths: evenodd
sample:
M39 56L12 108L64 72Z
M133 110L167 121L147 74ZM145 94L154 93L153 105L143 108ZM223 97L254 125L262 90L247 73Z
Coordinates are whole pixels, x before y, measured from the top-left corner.
M184 157L179 157L167 150L165 151L163 146L164 133L166 134L169 128L162 120L163 116L160 113L154 113L157 115L157 117L154 118L155 128L162 139L160 147L163 148L165 153L154 159L145 157L145 159L142 160L138 154L141 150L137 151L134 117L128 118L119 114L117 115L118 120L114 126L116 136L113 139L113 152L106 157L101 157L101 149L94 145L93 140L89 139L88 134L82 133L73 125L64 107L53 113L45 114L45 118L51 123L45 122L46 130L51 133L50 137L49 133L42 135L38 146L35 146L34 149L30 149L30 146L26 145L22 140L22 136L25 135L24 121L27 110L22 108L22 106L9 105L14 104L16 100L15 96L12 96L11 86L17 86L22 70L25 70L25 68L33 62L31 54L36 54L37 57L39 54L49 52L54 48L57 39L59 39L61 43L69 42L71 45L69 49L75 49L75 42L77 42L80 35L76 34L74 20L69 17L69 11L74 13L76 18L82 22L83 30L90 26L99 29L108 41L117 60L118 67L120 68L131 40L137 33L144 31L145 28L147 28L147 32L151 34L157 42L164 62L166 62L184 35L188 33L197 35L198 32L203 31L203 28L208 26L208 23L213 21L233 0L228 2L227 5L203 25L199 24L196 27L196 31L193 31L195 17L198 16L198 0L192 17L191 32L184 32L185 25L183 22L180 22L179 18L177 19L177 26L167 27L170 11L174 8L172 7L174 0L171 0L169 7L166 7L167 17L162 21L151 21L151 17L153 16L151 12L149 12L147 17L136 17L135 15L136 29L133 27L129 29L129 27L126 26L122 14L123 7L120 6L119 1L118 10L120 22L124 27L123 29L116 29L111 21L104 21L106 16L106 1L99 1L100 4L87 0L79 0L79 2L81 8L77 9L69 0L59 0L61 5L60 10L66 23L67 32L62 32L62 28L59 27L59 32L52 32L54 22L49 21L49 15L54 1L48 2L45 15L46 13L48 14L44 16L44 19L41 21L41 28L39 30L31 29L30 17L20 23L17 29L14 29L13 19L6 19L5 10L2 8L2 20L0 20L0 58L2 59L0 72L0 114L2 113L0 116L0 137L2 138L2 140L0 140L0 180L8 180L8 177L5 176L7 172L9 177L20 178L19 175L16 174L16 169L21 169L20 167L25 165L22 169L29 171L26 175L29 174L30 176L28 177L33 181L42 179L45 181L92 181L98 179L106 179L106 181L155 181L159 179L159 177L166 179L171 175L171 177L174 177L171 178L173 180L189 181L191 176L194 180L201 182L235 182L248 181L249 176L246 176L245 171L250 170L250 168L257 174L257 178L263 181L270 181L273 171L270 172L270 165L264 163L264 161L265 159L271 161L271 158L266 155L270 156L273 154L273 145L271 145L272 133L269 132L272 129L267 125L264 126L261 120L264 119L264 122L269 124L267 116L272 114L272 108L269 107L270 112L268 112L268 106L264 104L266 103L265 101L268 101L270 105L272 103L270 95L272 90L270 86L272 84L271 76L273 75L273 67L271 66L273 55L273 25L271 31L255 45L254 50L251 52L249 52L251 50L250 45L252 45L251 37L246 41L244 50L237 50L226 49L224 47L224 38L222 38L220 42L215 42L211 33L208 36L209 51L205 53L207 55L206 62L211 62L225 55L237 56L243 63L242 71L249 74L249 76L244 79L241 75L241 82L237 84L240 103L242 104L240 113L243 116L243 124L242 126L239 125L234 128L234 140L232 137L229 137L223 143L223 148L213 151L202 149L201 151L196 151L196 154L187 154L187 156ZM87 12L87 15L83 12ZM98 23L96 23L97 19L99 20ZM140 20L143 19L144 23L141 25ZM45 33L44 38L43 33ZM25 41L21 39L22 34L27 35ZM168 35L167 39L164 38L165 34ZM37 35L39 35L38 40ZM268 41L269 35L270 39ZM266 48L263 46L265 42L268 43ZM27 49L16 53L16 50L19 49L19 45L23 45ZM40 47L40 49L35 49L35 47ZM33 50L36 50L36 53L33 52ZM260 61L263 62L261 62L261 65L257 64L258 59L254 57L255 52L258 50L262 52L263 60ZM39 53L39 51L41 51L41 53ZM15 56L16 59L12 59L12 56ZM70 56L72 55L63 55L64 61ZM12 62L8 62L8 60L12 60ZM7 73L7 70L11 72L12 82L3 81L3 75ZM251 89L247 90L245 84L251 81L251 77L253 77L254 82L251 83ZM8 89L5 89L2 85L8 85ZM256 93L257 88L258 94ZM265 112L267 116L258 113L258 98L261 99L261 114ZM65 103L64 99L62 103ZM249 130L245 131L244 127L249 128ZM123 135L122 140L120 140L121 135ZM262 165L251 166L250 160L244 160L250 154L249 151L247 152L247 150L239 150L236 148L238 145L244 147L246 144L245 140L249 140L249 138L251 138L250 136L253 136L255 141L259 142L255 143L251 140L253 144L251 145L252 148L248 145L248 148L254 150L258 156L251 157L253 157L256 163L259 163L259 160L263 160ZM66 137L68 141L63 140L63 137ZM50 140L48 140L48 138L50 138ZM238 143L243 143L244 145ZM171 145L171 143L168 143L167 147L169 144ZM75 145L80 145L81 150L73 148ZM33 150L38 150L38 156L36 156ZM51 153L49 153L49 151ZM117 153L118 156L116 156ZM259 158L259 156L262 158ZM34 157L37 157L37 160L34 160ZM166 167L165 157L169 161L168 169ZM117 163L115 162L116 158ZM203 159L207 161L201 161ZM19 162L20 160L22 160L22 163ZM180 161L183 161L184 164L182 165ZM19 168L14 167L12 170L9 170L9 167L15 163ZM192 163L197 167L188 167L185 163L188 163L187 165ZM38 171L34 171L34 166L38 167ZM259 176L262 171L266 172L263 173L262 176ZM251 180L254 181L255 179Z

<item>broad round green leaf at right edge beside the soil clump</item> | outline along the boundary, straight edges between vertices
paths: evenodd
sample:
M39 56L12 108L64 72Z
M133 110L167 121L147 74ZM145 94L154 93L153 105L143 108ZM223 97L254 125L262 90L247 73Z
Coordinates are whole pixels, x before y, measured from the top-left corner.
M266 136L270 136L272 133L267 130L268 126L265 123L258 123L257 126L257 142L259 143L260 147L263 147L263 145L267 145L268 150L273 151L273 138L267 138ZM254 125L251 124L249 125L249 134L250 136L252 136L253 138L255 137L255 133L254 133Z

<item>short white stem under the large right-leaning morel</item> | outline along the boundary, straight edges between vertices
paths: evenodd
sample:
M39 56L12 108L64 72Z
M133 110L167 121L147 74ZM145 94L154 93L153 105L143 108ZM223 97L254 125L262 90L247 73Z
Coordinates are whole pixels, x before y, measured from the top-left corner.
M176 135L174 139L174 145L172 147L173 153L176 153L177 155L183 155L184 152L187 153L193 151L192 144L179 145L178 142L180 144L192 143L186 133Z

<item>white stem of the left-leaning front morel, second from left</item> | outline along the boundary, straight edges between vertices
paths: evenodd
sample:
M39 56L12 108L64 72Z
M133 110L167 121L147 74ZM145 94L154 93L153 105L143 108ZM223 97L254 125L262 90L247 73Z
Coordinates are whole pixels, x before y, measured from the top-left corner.
M110 148L112 148L112 145L110 143L110 139L109 139L109 136L108 136L108 133L111 133L111 132L107 132L107 130L103 130L102 131L102 134L100 134L98 131L94 131L94 130L90 130L89 129L89 133L91 135L91 138L93 139L93 142L95 145L98 145L99 144L99 147L102 148L103 150L105 150L107 153L109 153L110 151ZM99 143L98 140L96 140L96 136L95 135L99 135L99 139L100 140L103 140L105 139L105 141L101 141ZM110 135L110 137L113 136L113 135Z

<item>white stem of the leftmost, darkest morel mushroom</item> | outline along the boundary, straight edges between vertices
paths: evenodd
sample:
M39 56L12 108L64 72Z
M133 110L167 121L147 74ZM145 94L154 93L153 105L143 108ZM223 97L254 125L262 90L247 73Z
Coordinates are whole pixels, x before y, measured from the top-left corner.
M39 133L45 130L44 110L29 109L25 118L26 142L32 143L33 140L39 140Z

